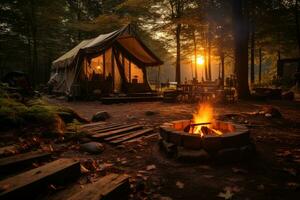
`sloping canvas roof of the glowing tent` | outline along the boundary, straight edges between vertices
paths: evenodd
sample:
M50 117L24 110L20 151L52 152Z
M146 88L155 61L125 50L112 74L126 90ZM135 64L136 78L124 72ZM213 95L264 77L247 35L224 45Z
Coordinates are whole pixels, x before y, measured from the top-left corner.
M80 54L97 54L99 51L110 48L118 43L123 51L131 54L145 66L161 65L163 62L142 43L142 41L130 30L130 25L117 31L101 34L96 38L83 40L73 49L53 61L52 69L70 66Z

